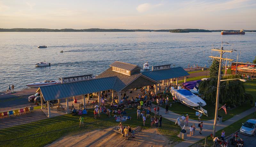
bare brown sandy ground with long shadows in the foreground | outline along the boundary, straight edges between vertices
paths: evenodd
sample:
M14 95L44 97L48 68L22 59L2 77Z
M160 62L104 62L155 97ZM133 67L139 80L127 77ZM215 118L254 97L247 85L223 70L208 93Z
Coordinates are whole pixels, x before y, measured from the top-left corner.
M169 139L159 134L156 129L144 129L135 132L135 138L125 140L113 131L113 127L104 130L94 130L75 136L65 136L46 145L46 147L164 147Z

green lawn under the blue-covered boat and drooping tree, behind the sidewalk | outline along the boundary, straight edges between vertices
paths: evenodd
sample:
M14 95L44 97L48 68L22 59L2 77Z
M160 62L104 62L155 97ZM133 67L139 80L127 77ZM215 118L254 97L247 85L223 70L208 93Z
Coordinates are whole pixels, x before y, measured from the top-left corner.
M252 94L254 97L254 101L255 101L255 99L256 99L256 80L255 81L246 81L244 83L244 86L245 86L246 93ZM170 100L170 102L171 101L172 100ZM253 101L253 104L254 104L254 101ZM214 115L215 115L215 104L213 104L212 102L208 102L208 101L206 101L206 103L207 103L207 105L204 106L203 108L205 110L207 110L208 117L203 115L201 117L202 121L212 120L212 119L214 119ZM154 102L154 104L156 104L156 102ZM218 111L218 115L223 117L222 121L224 122L224 121L234 117L235 115L240 114L240 113L244 112L245 110L248 110L249 108L252 108L252 105L250 104L249 101L247 101L244 104L242 104L241 106L237 106L236 108L233 108L230 110L227 109L227 115L225 114L225 111L223 109L220 109ZM189 108L181 103L172 104L172 107L169 107L169 110L172 112L175 112L177 114L180 114L180 115L188 114L189 118L191 118L191 119L195 119L195 120L198 119L198 117L196 116L196 110Z

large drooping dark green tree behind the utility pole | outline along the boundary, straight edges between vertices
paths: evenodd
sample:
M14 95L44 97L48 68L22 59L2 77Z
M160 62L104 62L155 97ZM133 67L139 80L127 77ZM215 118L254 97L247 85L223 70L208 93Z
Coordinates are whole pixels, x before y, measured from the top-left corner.
M221 79L241 79L241 75L223 76ZM218 79L211 78L207 81L201 81L199 84L199 93L203 94L205 100L215 102L217 93ZM244 101L248 100L245 96L244 83L239 80L221 81L220 82L220 96L219 102L221 104L241 105Z

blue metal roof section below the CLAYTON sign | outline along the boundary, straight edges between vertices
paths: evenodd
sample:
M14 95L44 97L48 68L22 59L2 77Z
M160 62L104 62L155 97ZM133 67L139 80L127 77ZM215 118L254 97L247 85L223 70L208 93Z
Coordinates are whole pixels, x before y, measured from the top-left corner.
M110 90L113 88L116 78L117 77L107 77L87 81L56 84L39 87L39 89L43 94L44 101L51 101L71 96Z

